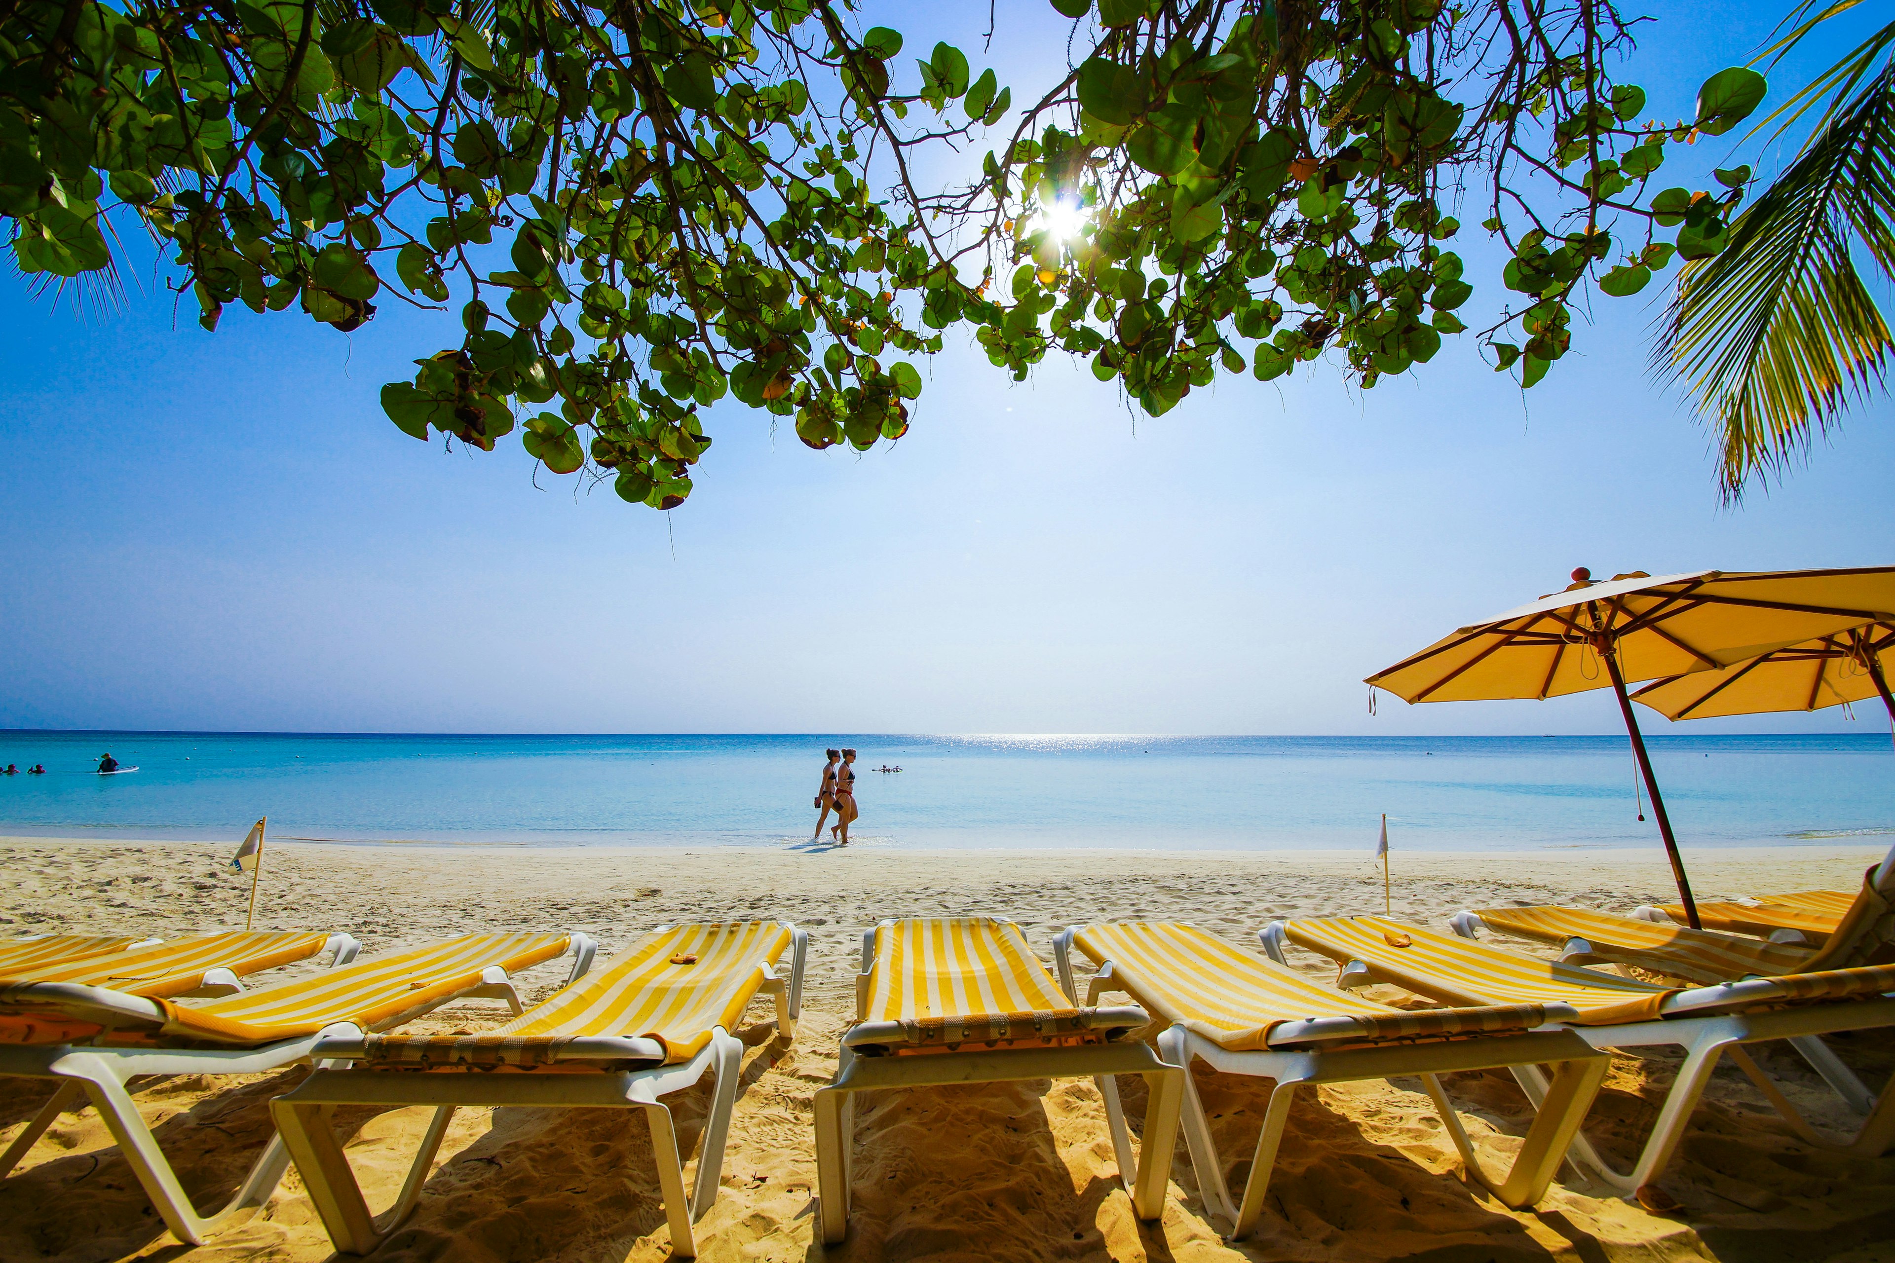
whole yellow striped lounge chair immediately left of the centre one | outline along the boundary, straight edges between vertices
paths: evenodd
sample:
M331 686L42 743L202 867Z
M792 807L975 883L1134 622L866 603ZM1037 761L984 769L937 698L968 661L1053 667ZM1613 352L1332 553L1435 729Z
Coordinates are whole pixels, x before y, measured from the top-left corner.
M788 977L779 969L790 952ZM368 1254L407 1218L457 1106L637 1108L652 1129L671 1250L694 1257L692 1223L716 1201L724 1138L737 1100L743 1041L731 1030L758 992L777 1002L777 1034L792 1038L802 1007L805 932L786 922L663 926L544 1004L474 1036L332 1030L318 1068L271 1102L330 1240ZM663 1096L714 1072L711 1113L690 1201ZM434 1106L394 1206L371 1216L330 1130L337 1104Z

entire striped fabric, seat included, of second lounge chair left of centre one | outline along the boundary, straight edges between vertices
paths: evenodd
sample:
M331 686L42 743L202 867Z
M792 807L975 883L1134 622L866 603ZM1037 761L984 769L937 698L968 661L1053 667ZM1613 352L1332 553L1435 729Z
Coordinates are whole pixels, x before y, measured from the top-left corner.
M527 969L559 956L568 943L567 934L468 934L207 1004L153 998L157 1017L114 1021L112 1040L262 1045L315 1034L332 1023L379 1030L478 987L489 968ZM87 1030L83 1013L91 1009L74 1002L72 990L64 983L0 985L0 1043L72 1043L97 1036L100 1023L89 1023Z

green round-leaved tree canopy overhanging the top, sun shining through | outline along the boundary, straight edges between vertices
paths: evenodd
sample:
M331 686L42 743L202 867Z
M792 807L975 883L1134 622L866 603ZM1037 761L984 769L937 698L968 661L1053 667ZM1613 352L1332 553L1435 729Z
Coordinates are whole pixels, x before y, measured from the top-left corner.
M663 509L726 394L868 449L957 329L1150 415L1325 354L1374 386L1467 329L1457 214L1508 256L1476 337L1533 386L1586 286L1719 254L1749 182L1658 187L1764 80L1645 117L1607 0L1052 8L1069 55L1001 85L847 0L0 0L0 214L44 284L142 227L207 329L457 307L396 426Z

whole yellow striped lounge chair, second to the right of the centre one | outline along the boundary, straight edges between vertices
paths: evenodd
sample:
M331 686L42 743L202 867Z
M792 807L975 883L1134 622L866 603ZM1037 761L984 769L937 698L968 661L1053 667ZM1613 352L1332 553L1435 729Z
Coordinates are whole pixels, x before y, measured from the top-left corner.
M1726 1053L1806 1142L1867 1157L1880 1155L1895 1142L1895 1091L1874 1098L1838 1060L1842 1076L1859 1089L1857 1104L1868 1115L1855 1138L1838 1142L1817 1132L1742 1047L1764 1040L1895 1026L1895 998L1887 994L1895 992L1895 966L1815 958L1812 964L1825 968L1673 988L1508 952L1381 916L1279 920L1262 932L1262 941L1277 960L1283 958L1285 941L1328 956L1342 966L1342 987L1387 983L1440 1004L1563 1004L1575 1015L1561 1021L1596 1049L1683 1049L1685 1064L1630 1174L1607 1165L1584 1134L1573 1140L1575 1161L1630 1195L1652 1183L1671 1161L1711 1070ZM1808 1057L1800 1041L1798 1049ZM1544 1091L1539 1072L1518 1066L1514 1077L1539 1104ZM1842 1091L1838 1079L1829 1074L1823 1077Z

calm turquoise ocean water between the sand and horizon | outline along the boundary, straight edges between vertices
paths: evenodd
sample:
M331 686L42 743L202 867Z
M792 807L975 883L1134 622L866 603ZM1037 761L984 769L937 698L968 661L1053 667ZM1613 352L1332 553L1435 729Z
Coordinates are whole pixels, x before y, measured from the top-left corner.
M877 846L1649 846L1622 737L385 737L0 731L0 833L805 845L822 748ZM110 750L121 776L89 769ZM1884 735L1660 737L1687 846L1895 841ZM874 769L900 765L898 774Z

